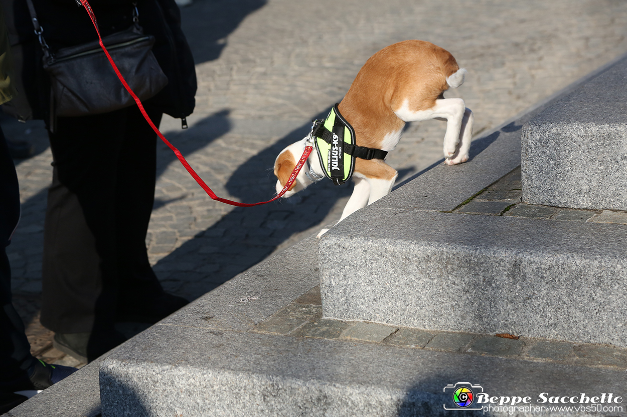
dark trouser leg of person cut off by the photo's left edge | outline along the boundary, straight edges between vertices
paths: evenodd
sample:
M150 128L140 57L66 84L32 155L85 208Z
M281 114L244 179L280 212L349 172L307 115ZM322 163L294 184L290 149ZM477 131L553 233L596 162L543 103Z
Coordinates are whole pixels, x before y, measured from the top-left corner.
M6 246L19 220L18 176L0 129L0 389L24 379L34 361L24 323L11 304L11 267Z

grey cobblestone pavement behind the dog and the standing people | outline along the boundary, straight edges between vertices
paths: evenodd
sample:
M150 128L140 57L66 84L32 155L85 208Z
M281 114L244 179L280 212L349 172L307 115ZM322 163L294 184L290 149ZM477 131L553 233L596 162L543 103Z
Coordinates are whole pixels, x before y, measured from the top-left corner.
M453 53L468 76L447 96L475 112L475 134L627 51L627 3L619 0L195 0L182 9L182 23L197 63L198 104L189 129L164 118L162 131L214 192L244 202L272 196L277 153L340 101L366 59L388 44L424 39ZM23 217L8 248L15 302L33 351L71 363L50 349L51 333L38 322L46 134L38 121L0 124L38 152L16 161ZM408 127L388 157L399 183L441 162L444 128ZM332 224L352 188L322 182L235 209L210 200L165 145L157 148L150 260L164 287L189 299Z

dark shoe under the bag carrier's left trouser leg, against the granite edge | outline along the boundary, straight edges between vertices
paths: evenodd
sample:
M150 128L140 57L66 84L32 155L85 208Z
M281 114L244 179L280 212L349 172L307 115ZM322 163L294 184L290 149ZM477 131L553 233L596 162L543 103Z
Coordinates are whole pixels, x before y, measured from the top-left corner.
M56 349L85 363L91 362L126 341L124 334L115 330L55 333Z

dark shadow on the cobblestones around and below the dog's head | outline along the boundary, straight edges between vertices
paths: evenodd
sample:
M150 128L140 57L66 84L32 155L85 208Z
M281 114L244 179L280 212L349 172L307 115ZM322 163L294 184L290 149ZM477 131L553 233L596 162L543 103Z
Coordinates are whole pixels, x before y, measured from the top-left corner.
M313 118L323 118L328 113L329 109ZM310 128L309 122L299 126L236 168L225 184L230 198L253 203L273 197L277 181L272 172L275 158L287 145L305 137ZM235 207L159 260L154 270L169 280L183 282L179 294L195 299L258 264L278 248L283 249L294 235L317 233L330 210L351 192L352 182L336 187L330 181L322 181L290 198L255 207ZM312 229L317 226L319 229Z

